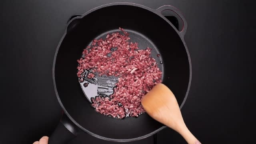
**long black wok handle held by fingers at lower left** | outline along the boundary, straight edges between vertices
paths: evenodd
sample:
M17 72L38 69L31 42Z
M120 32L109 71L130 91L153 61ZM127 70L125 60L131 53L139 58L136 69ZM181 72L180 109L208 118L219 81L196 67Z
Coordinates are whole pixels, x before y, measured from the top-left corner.
M80 129L63 114L60 123L49 138L48 144L67 144L76 137Z

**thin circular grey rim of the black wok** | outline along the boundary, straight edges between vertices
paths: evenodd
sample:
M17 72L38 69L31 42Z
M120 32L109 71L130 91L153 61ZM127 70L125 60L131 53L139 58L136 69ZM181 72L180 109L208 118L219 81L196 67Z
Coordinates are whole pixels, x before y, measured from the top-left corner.
M152 9L152 8L148 8L146 6L143 6L143 5L140 5L140 4L135 4L135 3L130 3L130 2L115 2L115 3L110 3L110 4L104 4L104 5L101 5L101 6L98 6L96 8L93 8L91 10L89 10L88 12L82 14L81 16L78 16L78 17L75 17L75 18L72 18L67 26L70 24L70 22L72 22L73 20L77 19L77 18L82 18L84 16L86 16L87 14L90 14L91 12L94 12L100 8L104 8L104 7L108 7L108 6L115 6L115 5L128 5L128 6L137 6L137 7L140 7L140 8L144 8L146 10L149 10L150 12L153 12L155 14L157 14L158 16L160 16L161 18L163 18L166 22L168 22L168 24L170 24L170 26L172 26L172 28L174 28L174 30L176 30L176 32L178 33L178 35L180 36L181 40L182 40L182 43L184 44L184 47L186 49L186 53L187 53L187 56L188 56L188 62L189 62L189 68L190 68L190 74L189 74L189 82L188 82L188 89L187 89L187 92L186 92L186 95L182 101L182 104L180 105L180 109L184 106L184 103L188 97L188 92L190 90L190 84L191 84L191 79L192 79L192 65L191 65L191 60L190 60L190 54L188 52L188 48L186 46L186 43L184 42L184 37L181 35L181 33L173 26L173 24L168 21L164 16L162 16L161 14L158 14L156 12L156 10ZM158 128L157 130L149 133L149 134L146 134L144 136L140 136L140 137L137 137L137 138L130 138L130 139L114 139L114 138L107 138L107 137L104 137L104 136L100 136L98 134L95 134L93 132L90 132L89 130L85 129L83 126L81 126L80 124L78 124L71 116L70 114L67 112L66 108L64 107L64 105L62 104L61 100L60 100L60 97L59 97L59 94L58 94L58 91L57 91L57 88L56 88L56 82L55 82L55 64L56 64L56 57L57 57L57 54L58 54L58 51L59 51L59 48L60 48L60 45L63 41L63 39L65 38L66 36L66 33L67 33L67 26L66 26L66 29L64 31L64 34L62 35L62 38L60 39L60 42L58 43L58 46L56 48L56 52L54 54L54 61L53 61L53 65L52 65L52 79L53 79L53 85L54 85L54 91L55 91L55 94L56 94L56 97L58 99L58 102L62 108L62 110L65 112L65 114L68 116L68 118L70 118L70 120L76 124L76 126L78 126L78 128L82 129L84 132L96 137L96 138L99 138L99 139L102 139L102 140L107 140L107 141L112 141L112 142L131 142L131 141L136 141L136 140L141 140L141 139L144 139L144 138L147 138L149 136L152 136L153 134L156 134L157 132L159 132L160 130L166 128L167 126L162 126L160 128Z

